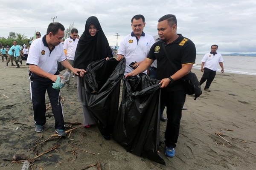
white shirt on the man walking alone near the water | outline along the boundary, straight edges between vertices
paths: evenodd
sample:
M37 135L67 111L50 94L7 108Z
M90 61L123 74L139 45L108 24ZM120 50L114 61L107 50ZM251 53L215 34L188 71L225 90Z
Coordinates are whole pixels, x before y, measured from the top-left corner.
M201 62L204 62L204 68L209 68L212 71L217 71L217 66L219 62L223 62L223 58L221 54L216 52L215 55L211 54L211 52L204 55Z

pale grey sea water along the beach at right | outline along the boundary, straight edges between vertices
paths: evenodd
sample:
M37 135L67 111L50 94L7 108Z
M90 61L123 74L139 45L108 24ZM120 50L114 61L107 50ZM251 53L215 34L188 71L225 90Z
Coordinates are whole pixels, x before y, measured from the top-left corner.
M201 69L201 59L204 55L196 55L193 68ZM256 75L256 57L251 56L222 56L224 59L224 73L249 74ZM217 72L221 72L221 67L218 65Z

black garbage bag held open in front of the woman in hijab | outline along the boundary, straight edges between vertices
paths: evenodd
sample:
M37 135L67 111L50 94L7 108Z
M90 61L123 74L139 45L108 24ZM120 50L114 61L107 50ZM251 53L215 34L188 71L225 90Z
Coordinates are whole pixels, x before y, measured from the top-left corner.
M125 72L125 58L91 62L84 74L88 109L102 136L110 139L118 113L120 82Z

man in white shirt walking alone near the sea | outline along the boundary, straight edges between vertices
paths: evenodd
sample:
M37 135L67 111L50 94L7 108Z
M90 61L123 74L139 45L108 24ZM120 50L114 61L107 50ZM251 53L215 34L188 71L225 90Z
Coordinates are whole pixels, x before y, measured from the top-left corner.
M201 60L201 71L204 72L203 77L200 80L200 85L202 85L206 80L206 85L204 87L205 91L210 92L210 85L215 78L218 63L221 66L221 73L224 72L223 67L223 58L221 54L217 53L218 45L211 46L211 52L204 55L203 59Z

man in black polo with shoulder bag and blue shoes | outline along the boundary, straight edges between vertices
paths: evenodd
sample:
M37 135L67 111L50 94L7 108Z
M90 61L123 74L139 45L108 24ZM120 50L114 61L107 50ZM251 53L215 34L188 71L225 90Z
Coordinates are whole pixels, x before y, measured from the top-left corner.
M180 119L182 107L186 99L186 93L181 77L188 74L195 63L196 49L195 44L177 34L177 19L175 15L167 14L158 20L158 35L161 41L152 45L147 58L137 69L127 74L135 76L145 71L155 59L157 59L157 79L161 79L161 107L166 104L168 122L165 132L166 156L175 156L177 139L180 130ZM166 56L163 48L166 48ZM177 67L178 71L172 67Z

